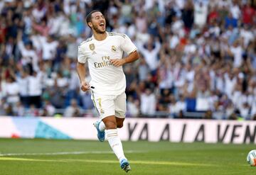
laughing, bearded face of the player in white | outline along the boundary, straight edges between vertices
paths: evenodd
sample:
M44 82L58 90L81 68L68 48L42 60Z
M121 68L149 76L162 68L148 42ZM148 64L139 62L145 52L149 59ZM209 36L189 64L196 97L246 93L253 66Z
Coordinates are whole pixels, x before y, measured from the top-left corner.
M92 13L92 30L95 30L96 33L105 33L106 31L106 20L105 17L97 11Z

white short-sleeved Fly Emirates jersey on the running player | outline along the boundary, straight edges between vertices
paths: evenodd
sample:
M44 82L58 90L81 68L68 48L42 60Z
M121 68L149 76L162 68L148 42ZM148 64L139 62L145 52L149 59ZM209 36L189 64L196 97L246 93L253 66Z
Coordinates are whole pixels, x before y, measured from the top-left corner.
M126 80L122 67L114 67L110 59L122 59L137 50L132 40L120 33L107 33L105 40L96 40L93 35L78 47L78 62L88 62L92 91L102 95L119 95L125 91Z

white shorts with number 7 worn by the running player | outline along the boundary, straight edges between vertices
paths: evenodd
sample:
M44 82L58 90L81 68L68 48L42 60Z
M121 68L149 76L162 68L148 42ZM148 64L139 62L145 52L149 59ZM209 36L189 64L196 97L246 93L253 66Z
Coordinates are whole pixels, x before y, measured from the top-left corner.
M110 115L117 118L125 118L126 94L123 92L118 96L99 95L92 92L92 101L100 115L100 120Z

